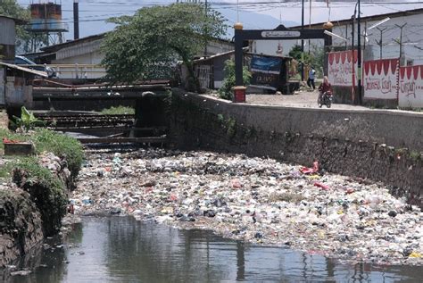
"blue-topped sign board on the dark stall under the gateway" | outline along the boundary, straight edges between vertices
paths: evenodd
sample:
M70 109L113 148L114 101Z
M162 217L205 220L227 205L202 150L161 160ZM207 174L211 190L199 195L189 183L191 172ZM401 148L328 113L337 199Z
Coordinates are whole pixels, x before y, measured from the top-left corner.
M282 58L254 55L251 60L251 84L278 88Z

